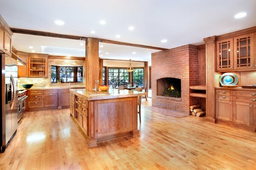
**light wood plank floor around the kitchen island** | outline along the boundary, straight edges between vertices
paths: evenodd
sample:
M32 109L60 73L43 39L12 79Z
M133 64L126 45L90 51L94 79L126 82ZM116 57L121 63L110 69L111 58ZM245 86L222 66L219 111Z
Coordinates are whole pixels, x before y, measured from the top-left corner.
M29 112L0 154L0 169L256 170L256 133L203 119L142 108L139 137L88 149L69 109Z

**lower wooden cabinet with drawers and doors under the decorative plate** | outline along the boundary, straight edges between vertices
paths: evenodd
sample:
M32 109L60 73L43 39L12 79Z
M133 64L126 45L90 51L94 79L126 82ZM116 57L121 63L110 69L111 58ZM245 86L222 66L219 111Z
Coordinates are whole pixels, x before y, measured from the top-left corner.
M256 127L256 90L216 90L215 118Z

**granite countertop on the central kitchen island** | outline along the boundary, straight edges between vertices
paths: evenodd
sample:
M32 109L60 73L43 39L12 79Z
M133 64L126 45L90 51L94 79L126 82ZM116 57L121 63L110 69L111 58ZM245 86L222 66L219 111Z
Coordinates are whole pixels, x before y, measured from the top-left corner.
M124 97L144 96L147 92L131 91L131 90L118 90L109 89L108 91L98 91L95 94L94 91L86 91L85 89L70 89L70 91L77 96L80 96L86 100L101 100L101 99L117 99Z

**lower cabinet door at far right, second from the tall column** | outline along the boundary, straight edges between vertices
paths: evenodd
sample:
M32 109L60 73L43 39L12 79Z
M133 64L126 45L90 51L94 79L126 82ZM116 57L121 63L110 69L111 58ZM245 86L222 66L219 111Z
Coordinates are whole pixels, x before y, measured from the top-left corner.
M253 126L253 104L234 102L233 122Z

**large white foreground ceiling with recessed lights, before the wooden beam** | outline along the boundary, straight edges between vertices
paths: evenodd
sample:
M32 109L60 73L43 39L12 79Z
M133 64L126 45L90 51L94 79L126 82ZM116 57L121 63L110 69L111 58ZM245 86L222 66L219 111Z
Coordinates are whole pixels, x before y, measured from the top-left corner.
M0 14L13 28L173 48L256 26L255 9L256 0L1 0Z

